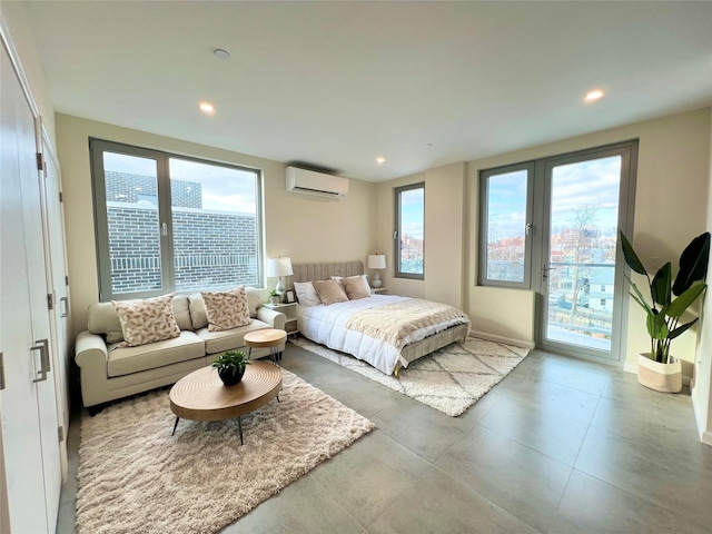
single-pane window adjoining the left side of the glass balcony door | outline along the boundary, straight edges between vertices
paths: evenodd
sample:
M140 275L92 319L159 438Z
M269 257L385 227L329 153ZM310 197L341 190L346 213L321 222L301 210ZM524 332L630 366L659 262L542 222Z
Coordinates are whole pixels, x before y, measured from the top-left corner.
M532 164L483 171L479 284L530 287Z

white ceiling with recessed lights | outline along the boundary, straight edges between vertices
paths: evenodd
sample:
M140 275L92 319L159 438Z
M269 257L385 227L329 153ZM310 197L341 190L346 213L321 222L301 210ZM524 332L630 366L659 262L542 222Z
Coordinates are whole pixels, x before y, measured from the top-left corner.
M712 2L27 8L56 111L373 181L712 103Z

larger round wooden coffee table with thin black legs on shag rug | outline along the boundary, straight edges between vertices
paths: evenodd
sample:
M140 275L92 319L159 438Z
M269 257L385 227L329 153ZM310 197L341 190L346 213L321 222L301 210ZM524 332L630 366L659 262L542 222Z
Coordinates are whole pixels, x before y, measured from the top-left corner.
M267 362L253 362L245 368L243 380L226 386L217 369L194 370L170 388L170 409L176 414L174 434L180 417L191 421L225 421L237 417L243 444L240 416L266 405L281 389L281 369Z

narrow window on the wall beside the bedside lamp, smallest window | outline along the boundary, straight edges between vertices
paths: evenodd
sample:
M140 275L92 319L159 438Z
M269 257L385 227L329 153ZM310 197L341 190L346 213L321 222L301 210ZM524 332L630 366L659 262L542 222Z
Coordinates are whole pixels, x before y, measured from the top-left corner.
M425 184L396 187L397 278L424 278Z

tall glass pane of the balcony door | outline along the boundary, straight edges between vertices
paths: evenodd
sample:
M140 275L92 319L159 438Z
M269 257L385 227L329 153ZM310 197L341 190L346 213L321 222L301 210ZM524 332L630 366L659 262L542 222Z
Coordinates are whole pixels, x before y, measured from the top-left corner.
M544 344L612 350L622 165L614 155L546 168Z

